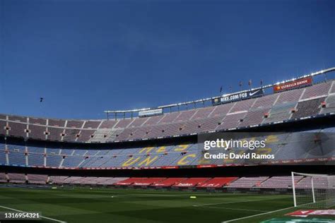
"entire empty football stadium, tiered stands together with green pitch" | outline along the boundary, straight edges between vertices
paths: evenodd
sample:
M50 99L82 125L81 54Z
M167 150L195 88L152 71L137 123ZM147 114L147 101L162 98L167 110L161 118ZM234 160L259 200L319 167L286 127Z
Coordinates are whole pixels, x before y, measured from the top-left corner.
M323 76L334 71L193 102L106 111L102 120L1 114L1 208L39 210L46 222L155 222L162 215L170 222L178 212L192 222L259 222L301 205L329 208L335 81ZM204 158L199 135L245 132L267 139L254 151L274 159ZM240 146L238 154L247 150Z

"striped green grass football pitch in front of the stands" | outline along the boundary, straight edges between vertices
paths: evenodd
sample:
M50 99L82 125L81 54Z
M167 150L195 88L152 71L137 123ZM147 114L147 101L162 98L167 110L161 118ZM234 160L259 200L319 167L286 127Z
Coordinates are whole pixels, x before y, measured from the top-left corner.
M189 198L191 195L196 199ZM8 211L4 207L37 211L44 217L63 222L209 223L241 217L248 218L232 222L260 222L285 217L286 213L296 210L292 203L292 195L111 188L0 188L1 212ZM272 212L274 210L281 211ZM252 215L257 216L250 217ZM42 219L35 222L56 221Z

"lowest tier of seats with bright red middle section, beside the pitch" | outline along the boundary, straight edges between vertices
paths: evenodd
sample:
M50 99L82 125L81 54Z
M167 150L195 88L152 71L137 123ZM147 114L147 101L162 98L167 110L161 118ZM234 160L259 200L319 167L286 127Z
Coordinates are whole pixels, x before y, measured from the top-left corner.
M214 177L214 178L139 178L139 177L94 177L94 176L47 176L42 174L6 174L0 173L0 183L57 184L81 186L130 186L153 188L260 188L290 189L292 176L258 176L258 177ZM310 176L295 178L297 188L310 188ZM315 188L327 188L329 182L324 177L317 177Z

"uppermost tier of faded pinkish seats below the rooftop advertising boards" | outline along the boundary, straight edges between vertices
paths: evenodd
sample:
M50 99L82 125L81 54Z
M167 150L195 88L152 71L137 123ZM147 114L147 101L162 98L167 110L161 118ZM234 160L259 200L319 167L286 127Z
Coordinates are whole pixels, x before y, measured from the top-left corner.
M41 119L2 114L0 134L64 142L114 142L225 131L319 114L334 109L334 81L238 102L116 120Z

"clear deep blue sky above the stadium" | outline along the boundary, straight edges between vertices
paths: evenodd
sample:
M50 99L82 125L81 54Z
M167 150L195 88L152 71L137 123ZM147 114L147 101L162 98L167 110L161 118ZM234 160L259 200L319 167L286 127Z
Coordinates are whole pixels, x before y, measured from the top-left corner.
M335 66L334 11L317 0L0 0L0 113L102 119Z

